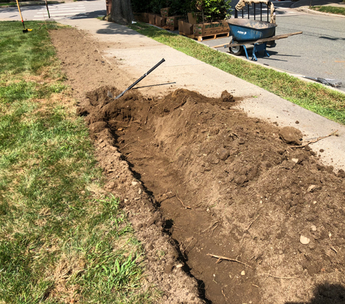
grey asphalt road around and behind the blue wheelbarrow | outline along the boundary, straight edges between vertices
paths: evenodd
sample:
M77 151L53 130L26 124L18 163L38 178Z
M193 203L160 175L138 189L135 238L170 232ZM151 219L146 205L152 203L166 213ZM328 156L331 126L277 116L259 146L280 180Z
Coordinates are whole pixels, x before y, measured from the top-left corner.
M258 63L303 76L337 79L343 83L339 90L345 91L345 18L297 12L290 8L291 1L273 3L277 10L276 34L303 34L276 41L275 48L267 48L270 57L259 53ZM213 46L230 40L231 37L202 43ZM228 48L218 50L229 52ZM248 56L251 59L252 48ZM244 53L240 57L246 58Z

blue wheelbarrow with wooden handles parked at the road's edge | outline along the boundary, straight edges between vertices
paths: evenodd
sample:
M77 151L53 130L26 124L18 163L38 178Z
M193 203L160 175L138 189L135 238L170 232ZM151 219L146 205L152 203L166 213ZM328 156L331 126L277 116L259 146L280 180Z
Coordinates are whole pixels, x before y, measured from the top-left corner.
M250 19L228 19L226 20L230 27L230 33L233 35L233 40L230 44L216 45L213 48L219 48L224 46L224 48L229 48L230 53L236 56L246 52L246 57L248 58L248 52L246 45L254 45L252 60L257 61L255 55L256 52L264 51L265 57L270 57L266 47L267 43L273 42L271 48L275 46L276 40L287 38L295 34L302 34L302 32L293 32L289 34L282 34L275 36L275 28L277 24L268 23L266 21L256 21Z

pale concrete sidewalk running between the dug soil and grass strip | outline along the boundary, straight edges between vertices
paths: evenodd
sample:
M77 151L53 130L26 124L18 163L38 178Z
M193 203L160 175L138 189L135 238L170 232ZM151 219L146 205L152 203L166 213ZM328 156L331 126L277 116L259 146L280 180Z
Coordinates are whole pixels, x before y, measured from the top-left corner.
M165 63L140 83L140 87L148 86L140 89L144 94L167 94L177 88L186 88L209 97L219 97L221 92L228 90L235 97L243 98L239 107L249 116L270 123L277 122L281 127L291 125L302 130L305 139L325 136L339 130L339 136L322 139L311 145L311 148L325 164L333 165L337 170L345 170L344 125L329 121L125 26L97 19L63 19L61 23L86 30L92 38L106 43L103 58L112 63L116 57L121 62L121 69L128 71L128 74L137 75L137 78L162 58L166 59ZM324 152L320 153L320 149Z

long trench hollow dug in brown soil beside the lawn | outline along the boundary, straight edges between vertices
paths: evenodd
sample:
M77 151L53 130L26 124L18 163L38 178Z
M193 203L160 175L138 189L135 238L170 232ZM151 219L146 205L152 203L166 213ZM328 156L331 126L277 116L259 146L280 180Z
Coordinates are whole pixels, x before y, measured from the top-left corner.
M181 92L170 104L162 105L153 113L152 105L140 107L136 97L128 97L121 108L112 109L116 114L110 114L108 124L135 177L155 198L166 219L166 232L177 243L186 271L197 279L200 294L208 303L225 304L228 299L231 303L246 303L259 297L254 271L241 263L216 263L217 259L208 255L224 254L241 260L237 236L224 232L223 219L213 212L213 204L208 206L208 199L215 203L220 199L214 181L202 190L193 181L195 177L204 179L204 175L205 179L215 178L207 174L211 173L210 165L205 168L195 158L216 156L217 159L217 150L221 150L221 147L210 147L210 151L203 152L201 148L204 140L216 136L219 130L210 123L218 106L201 103L200 108L197 103L200 98L199 94ZM157 108L157 103L155 106ZM193 130L195 124L197 129L201 125L204 129ZM194 145L190 143L193 138ZM241 275L243 271L246 276Z

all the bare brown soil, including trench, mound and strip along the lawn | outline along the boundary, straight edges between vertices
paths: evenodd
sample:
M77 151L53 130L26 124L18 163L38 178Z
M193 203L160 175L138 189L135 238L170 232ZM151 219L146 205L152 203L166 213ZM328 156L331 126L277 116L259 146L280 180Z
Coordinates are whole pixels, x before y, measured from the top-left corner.
M146 250L148 284L164 292L159 303L344 303L345 173L308 146L289 148L277 126L236 110L226 92L108 98L120 91L105 77L117 88L128 79L95 65L95 41L76 32L52 41L61 60L82 64L64 68L83 97L106 188Z

